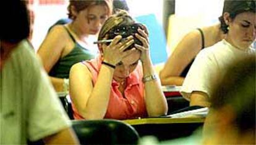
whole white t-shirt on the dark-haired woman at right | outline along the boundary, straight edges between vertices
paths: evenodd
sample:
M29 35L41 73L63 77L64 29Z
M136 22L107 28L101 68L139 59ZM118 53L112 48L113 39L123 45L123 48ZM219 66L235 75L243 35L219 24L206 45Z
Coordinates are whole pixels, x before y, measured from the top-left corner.
M226 68L234 61L249 57L249 55L255 55L255 50L252 48L237 49L224 39L201 50L184 80L181 88L182 96L190 100L190 95L194 91L204 92L211 96L212 87L224 77Z

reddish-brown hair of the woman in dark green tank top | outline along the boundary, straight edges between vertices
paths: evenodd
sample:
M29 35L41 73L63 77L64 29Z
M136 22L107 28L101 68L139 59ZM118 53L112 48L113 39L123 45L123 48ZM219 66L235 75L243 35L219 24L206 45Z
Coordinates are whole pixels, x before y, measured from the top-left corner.
M109 0L70 0L69 6L67 7L68 16L72 20L75 20L75 15L72 14L71 7L73 6L75 11L78 13L81 10L88 9L92 6L103 5L108 7L108 15L113 13L113 1Z

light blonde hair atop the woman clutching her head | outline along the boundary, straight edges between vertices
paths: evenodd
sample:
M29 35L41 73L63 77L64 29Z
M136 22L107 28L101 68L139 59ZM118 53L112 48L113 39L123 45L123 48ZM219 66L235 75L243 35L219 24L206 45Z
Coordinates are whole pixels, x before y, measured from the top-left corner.
M102 40L103 37L114 27L118 25L130 25L134 24L135 20L125 10L118 10L116 14L111 15L108 20L105 21L100 29L98 40Z

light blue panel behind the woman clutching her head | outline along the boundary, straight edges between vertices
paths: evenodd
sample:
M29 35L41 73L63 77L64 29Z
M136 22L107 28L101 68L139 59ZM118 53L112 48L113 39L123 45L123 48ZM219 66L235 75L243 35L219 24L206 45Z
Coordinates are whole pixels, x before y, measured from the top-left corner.
M158 23L154 14L142 15L135 18L137 22L147 26L150 39L150 56L153 65L163 63L167 60L166 37L163 27Z

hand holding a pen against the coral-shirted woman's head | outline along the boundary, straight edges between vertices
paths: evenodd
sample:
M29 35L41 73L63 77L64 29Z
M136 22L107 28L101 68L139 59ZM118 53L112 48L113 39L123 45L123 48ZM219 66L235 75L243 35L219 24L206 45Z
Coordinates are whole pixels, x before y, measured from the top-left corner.
M132 36L129 36L124 41L119 42L121 39L122 36L118 35L114 37L114 40L111 42L111 44L103 44L103 59L106 63L116 65L122 60L122 58L126 57L131 52L136 50L134 48L124 51L127 47L134 43L134 39Z

